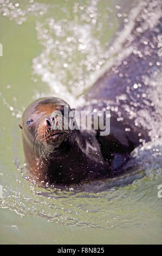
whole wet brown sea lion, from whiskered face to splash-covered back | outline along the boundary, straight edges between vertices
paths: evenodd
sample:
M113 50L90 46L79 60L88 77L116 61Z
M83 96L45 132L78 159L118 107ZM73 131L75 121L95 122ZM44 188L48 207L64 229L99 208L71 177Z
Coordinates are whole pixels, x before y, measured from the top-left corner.
M135 147L160 136L161 19L153 8L158 5L152 7L149 1L141 10L116 64L96 81L86 95L87 104L79 109L109 109L109 135L101 136L100 130L54 130L60 119L55 120L53 112L63 107L72 111L56 97L37 100L25 110L20 124L25 160L38 181L72 184L116 175ZM151 23L146 13L156 13Z

